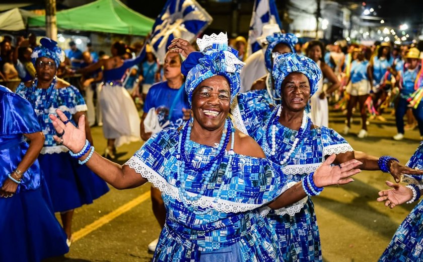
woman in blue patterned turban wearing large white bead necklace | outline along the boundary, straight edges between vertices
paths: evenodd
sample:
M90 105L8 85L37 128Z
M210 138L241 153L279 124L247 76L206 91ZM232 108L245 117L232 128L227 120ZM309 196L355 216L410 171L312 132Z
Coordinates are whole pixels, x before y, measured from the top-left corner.
M272 77L281 106L271 108L261 96L245 93L238 94L238 106L232 106L232 113L237 127L258 142L266 156L279 164L287 179L305 179L331 154L336 154L336 162L358 159L363 162L360 168L379 170L378 158L353 151L333 129L315 126L307 117L304 110L321 78L314 61L293 53L280 55L274 61ZM387 161L397 179L406 171L413 172L394 160ZM284 260L322 260L311 198L298 213L270 211L268 219L278 236Z

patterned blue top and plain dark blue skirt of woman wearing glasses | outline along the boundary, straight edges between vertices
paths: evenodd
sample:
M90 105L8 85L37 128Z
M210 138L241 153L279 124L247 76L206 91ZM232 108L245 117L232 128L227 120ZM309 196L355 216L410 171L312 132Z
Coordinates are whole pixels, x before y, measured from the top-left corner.
M48 117L55 114L55 109L63 111L70 122L76 125L72 116L80 111L87 111L87 105L78 89L74 86L56 88L53 80L49 88L26 87L21 83L16 93L26 98L33 106L38 123L45 136L44 147L38 156L41 170L50 191L54 212L65 212L93 200L109 191L109 187L87 166L78 164L66 147L57 145L53 140L56 131Z

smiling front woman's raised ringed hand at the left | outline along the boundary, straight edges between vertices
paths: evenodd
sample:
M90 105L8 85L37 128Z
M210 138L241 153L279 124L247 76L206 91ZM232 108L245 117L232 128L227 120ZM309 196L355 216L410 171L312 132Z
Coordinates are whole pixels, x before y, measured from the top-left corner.
M67 147L74 153L81 152L81 150L84 148L86 140L85 115L81 115L78 120L78 127L76 127L71 122L67 122L66 124L63 123L68 119L60 109L56 109L56 113L60 119L53 114L50 114L49 117L53 122L56 133L61 134L64 130L64 134L61 138L59 138L57 135L53 136L54 141L57 143L62 143L63 146Z

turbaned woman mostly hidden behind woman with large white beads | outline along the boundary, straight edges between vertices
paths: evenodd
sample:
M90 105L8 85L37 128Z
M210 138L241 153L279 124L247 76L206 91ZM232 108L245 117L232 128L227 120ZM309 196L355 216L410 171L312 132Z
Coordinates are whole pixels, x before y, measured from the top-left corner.
M275 94L272 81L273 59L279 54L294 52L294 46L298 43L298 38L290 33L274 33L271 36L267 36L266 40L269 44L264 53L264 62L268 73L253 83L251 91L261 94L270 104L278 105L280 104L280 99Z

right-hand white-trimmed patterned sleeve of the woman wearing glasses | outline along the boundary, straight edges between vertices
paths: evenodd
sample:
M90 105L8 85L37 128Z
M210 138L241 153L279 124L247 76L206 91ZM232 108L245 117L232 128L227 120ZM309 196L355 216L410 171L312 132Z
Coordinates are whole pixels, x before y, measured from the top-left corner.
M57 89L59 105L57 108L62 111L68 111L71 114L75 114L81 111L87 111L87 105L85 104L84 97L80 91L74 86L68 86ZM50 112L54 113L54 112Z

